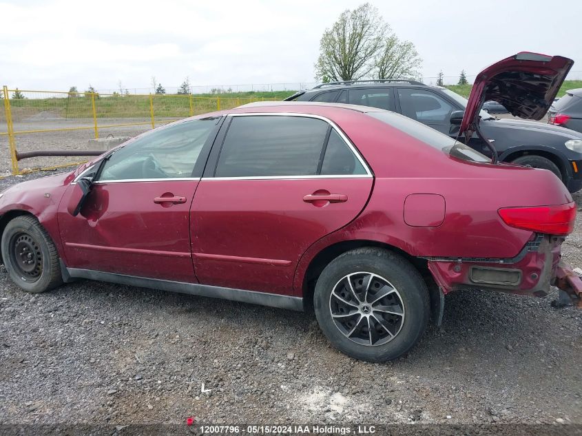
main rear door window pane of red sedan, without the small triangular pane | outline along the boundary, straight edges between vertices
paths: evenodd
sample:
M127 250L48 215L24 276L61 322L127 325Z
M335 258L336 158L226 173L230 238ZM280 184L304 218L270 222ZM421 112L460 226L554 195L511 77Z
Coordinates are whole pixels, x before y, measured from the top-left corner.
M215 176L315 175L328 127L304 116L234 116Z

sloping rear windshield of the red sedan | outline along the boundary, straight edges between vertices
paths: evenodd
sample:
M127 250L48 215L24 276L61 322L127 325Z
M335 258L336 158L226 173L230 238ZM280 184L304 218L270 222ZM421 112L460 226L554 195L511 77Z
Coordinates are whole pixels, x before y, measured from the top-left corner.
M467 147L464 143L438 132L408 116L395 114L394 112L366 112L367 115L391 125L402 132L417 138L430 147L442 150L444 153L456 158L471 160L472 162L489 163L491 160L484 154Z

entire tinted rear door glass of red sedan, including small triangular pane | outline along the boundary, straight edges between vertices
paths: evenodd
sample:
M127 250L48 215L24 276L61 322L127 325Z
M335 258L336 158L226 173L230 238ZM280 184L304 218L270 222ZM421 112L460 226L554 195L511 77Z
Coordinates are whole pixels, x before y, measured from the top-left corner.
M216 177L365 175L329 123L305 116L233 116Z

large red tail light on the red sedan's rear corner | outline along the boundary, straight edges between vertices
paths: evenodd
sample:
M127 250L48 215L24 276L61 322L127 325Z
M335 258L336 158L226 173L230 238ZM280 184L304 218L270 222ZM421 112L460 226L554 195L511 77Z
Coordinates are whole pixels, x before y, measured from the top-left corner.
M498 211L506 225L550 235L568 235L574 230L576 205L503 207Z

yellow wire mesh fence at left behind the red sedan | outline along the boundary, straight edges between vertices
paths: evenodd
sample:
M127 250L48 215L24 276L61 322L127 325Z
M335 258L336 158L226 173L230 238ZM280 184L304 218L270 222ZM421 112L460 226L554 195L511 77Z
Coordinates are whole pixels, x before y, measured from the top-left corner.
M135 136L180 118L264 100L195 94L101 94L9 90L0 94L0 175L74 165L70 158L30 158L19 152L89 150L90 138ZM94 147L92 147L94 148ZM25 168L22 168L26 165Z

